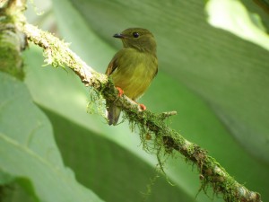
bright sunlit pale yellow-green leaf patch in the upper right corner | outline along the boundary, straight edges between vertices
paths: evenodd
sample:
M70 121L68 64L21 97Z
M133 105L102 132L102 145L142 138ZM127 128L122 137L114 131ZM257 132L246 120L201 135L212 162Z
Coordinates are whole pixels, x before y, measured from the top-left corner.
M206 5L208 22L269 50L269 36L256 13L239 0L211 0Z

